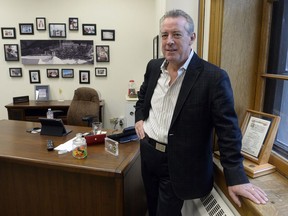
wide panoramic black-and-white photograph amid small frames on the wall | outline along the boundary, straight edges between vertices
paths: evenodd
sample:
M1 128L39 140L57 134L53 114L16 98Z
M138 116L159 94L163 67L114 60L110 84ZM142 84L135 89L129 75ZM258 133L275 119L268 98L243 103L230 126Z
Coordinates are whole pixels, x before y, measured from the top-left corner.
M94 64L93 40L20 40L24 65Z

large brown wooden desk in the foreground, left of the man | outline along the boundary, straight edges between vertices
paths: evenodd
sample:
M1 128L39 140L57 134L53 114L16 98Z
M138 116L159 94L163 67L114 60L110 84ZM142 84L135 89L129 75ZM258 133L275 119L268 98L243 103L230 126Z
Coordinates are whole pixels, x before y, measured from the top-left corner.
M104 144L88 146L88 157L46 150L90 128L66 126L64 137L30 134L36 122L0 120L0 215L144 216L146 201L138 142L121 144L119 156Z

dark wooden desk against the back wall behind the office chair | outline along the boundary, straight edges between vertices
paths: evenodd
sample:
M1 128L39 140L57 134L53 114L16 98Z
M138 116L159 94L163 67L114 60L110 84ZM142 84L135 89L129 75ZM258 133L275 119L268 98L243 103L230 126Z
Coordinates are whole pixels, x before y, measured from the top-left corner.
M50 101L41 101L36 102L34 100L30 100L27 103L19 103L13 104L10 103L6 105L8 112L8 119L9 120L21 120L21 121L38 121L39 117L46 117L46 112L48 108L52 110L62 110L63 114L59 116L63 120L64 123L67 121L67 111L71 104L71 100L65 101L57 101L57 100L50 100ZM103 122L103 115L104 115L104 100L100 101L100 109L99 109L99 121Z

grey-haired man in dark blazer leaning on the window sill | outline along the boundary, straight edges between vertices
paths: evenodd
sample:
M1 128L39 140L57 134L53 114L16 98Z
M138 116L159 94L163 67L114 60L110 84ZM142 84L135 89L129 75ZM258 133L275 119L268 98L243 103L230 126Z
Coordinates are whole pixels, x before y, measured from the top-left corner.
M241 131L225 71L200 59L192 18L181 10L161 20L164 59L151 60L136 103L142 177L149 216L178 216L185 199L213 187L215 129L229 194L265 204L266 194L249 183L242 165Z

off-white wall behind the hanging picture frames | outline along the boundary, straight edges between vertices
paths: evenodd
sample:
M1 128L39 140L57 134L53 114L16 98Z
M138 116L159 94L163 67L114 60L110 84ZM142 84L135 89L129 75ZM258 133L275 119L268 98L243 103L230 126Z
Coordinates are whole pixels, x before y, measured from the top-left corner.
M0 119L7 119L4 107L15 96L29 95L34 98L34 84L30 84L29 70L39 69L41 84L50 86L51 99L59 99L58 90L63 89L64 99L72 99L79 86L90 86L100 91L105 100L104 124L109 127L109 118L124 116L125 94L128 81L134 79L139 86L145 67L152 58L152 39L155 36L154 0L7 0L0 7L0 27L16 27L16 39L0 39ZM19 23L34 23L36 17L45 17L48 23L66 23L68 17L79 18L79 31L67 30L67 40L93 40L94 46L110 46L110 63L92 66L74 65L74 79L48 79L47 68L71 68L69 65L23 65L4 60L3 44L19 44L20 39L50 39L48 30L34 29L34 35L19 35ZM96 36L83 36L82 24L97 24ZM48 27L48 26L47 26ZM68 25L66 26L68 29ZM101 41L101 29L115 29L115 41ZM95 67L107 67L107 77L95 77ZM11 78L10 67L21 67L22 78ZM90 85L79 84L79 70L90 70Z

